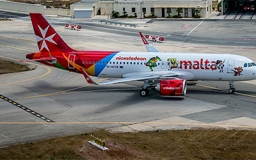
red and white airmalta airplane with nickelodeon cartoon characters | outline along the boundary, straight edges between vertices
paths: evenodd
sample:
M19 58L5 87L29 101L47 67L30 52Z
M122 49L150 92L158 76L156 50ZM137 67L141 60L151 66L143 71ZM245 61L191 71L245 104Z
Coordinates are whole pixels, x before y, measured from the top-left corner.
M83 74L88 83L115 84L143 81L142 97L149 90L161 95L186 95L187 81L228 81L234 93L234 81L256 79L256 64L234 54L124 51L76 51L70 48L40 13L30 13L40 52L26 55L29 60ZM146 42L146 41L145 41ZM148 45L149 46L149 45ZM95 83L92 77L116 77Z

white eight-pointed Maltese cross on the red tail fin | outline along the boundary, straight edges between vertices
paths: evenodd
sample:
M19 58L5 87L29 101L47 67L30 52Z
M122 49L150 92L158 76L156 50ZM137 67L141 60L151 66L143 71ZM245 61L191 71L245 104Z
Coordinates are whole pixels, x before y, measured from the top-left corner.
M50 25L49 25L50 26ZM40 33L41 36L37 36L36 35L36 42L40 42L39 46L40 46L40 51L42 51L44 48L47 49L47 51L49 51L48 46L46 44L46 40L48 42L51 42L52 44L56 44L56 42L54 42L54 40L52 40L52 38L56 35L56 33L52 34L51 36L46 36L49 26L47 26L47 28L42 29L40 28L40 26L38 25L38 28L40 29ZM42 41L42 42L41 42Z

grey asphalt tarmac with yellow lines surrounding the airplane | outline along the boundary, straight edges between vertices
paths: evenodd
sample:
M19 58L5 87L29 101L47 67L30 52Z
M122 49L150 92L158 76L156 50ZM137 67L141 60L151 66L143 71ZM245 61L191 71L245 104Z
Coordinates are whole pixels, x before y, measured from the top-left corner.
M164 43L152 43L160 51L230 51L256 60L253 22L247 26L244 24L244 28L252 29L247 33L237 31L238 27L234 24L239 22L220 20L204 21L194 31L192 29L200 23L198 20L189 21L188 24L193 24L192 28L180 28L184 22L175 20L142 23L139 28L99 24L95 20L77 22L53 17L47 17L47 20L52 22L70 47L81 50L145 51L138 31L157 35L162 29L166 33L161 34L173 34L176 38L170 36L170 40ZM81 24L83 30L64 29L63 24L67 22ZM170 26L176 29L175 33L171 32L173 29ZM223 35L211 39L216 33L209 31L209 26ZM0 27L0 58L24 60L26 54L38 51L29 17L1 22ZM152 31L154 28L156 31ZM248 36L250 39L246 39ZM212 43L216 39L221 41ZM184 97L166 97L155 91L150 91L148 97L140 97L141 82L93 86L84 81L83 75L40 63L36 63L35 70L0 75L0 79L0 146L95 129L156 131L193 127L256 128L255 81L236 82L237 92L234 94L227 92L227 82L198 81L189 84ZM93 79L102 80L97 77Z

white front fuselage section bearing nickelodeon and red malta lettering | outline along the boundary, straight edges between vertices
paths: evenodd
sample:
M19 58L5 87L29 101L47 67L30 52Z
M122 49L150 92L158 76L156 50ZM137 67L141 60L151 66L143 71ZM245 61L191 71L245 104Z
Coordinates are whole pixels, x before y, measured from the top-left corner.
M255 63L249 58L234 54L118 52L104 64L106 66L99 73L100 77L125 77L136 72L164 71L175 72L179 74L178 78L191 81L256 79Z

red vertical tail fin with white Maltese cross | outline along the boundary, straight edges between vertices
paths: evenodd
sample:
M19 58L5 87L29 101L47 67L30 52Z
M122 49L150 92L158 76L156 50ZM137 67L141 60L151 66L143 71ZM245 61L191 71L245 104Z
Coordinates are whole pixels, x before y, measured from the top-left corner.
M29 13L40 52L72 52L40 13Z

